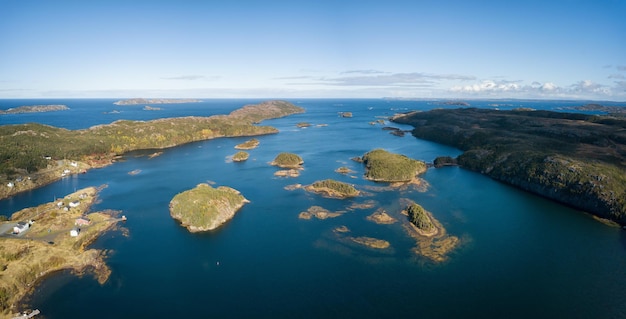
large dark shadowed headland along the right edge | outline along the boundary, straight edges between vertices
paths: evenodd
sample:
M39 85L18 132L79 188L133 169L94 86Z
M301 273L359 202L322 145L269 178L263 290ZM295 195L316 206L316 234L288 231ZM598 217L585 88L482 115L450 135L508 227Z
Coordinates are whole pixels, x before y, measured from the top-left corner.
M462 108L392 121L413 125L418 138L461 149L456 163L464 168L626 225L624 118Z

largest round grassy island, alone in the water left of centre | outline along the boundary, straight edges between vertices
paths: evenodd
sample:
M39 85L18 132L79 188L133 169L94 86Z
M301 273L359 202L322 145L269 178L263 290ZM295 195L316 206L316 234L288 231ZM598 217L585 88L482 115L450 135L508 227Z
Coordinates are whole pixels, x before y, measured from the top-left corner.
M220 227L248 202L233 188L203 183L174 196L170 215L190 232L202 232Z

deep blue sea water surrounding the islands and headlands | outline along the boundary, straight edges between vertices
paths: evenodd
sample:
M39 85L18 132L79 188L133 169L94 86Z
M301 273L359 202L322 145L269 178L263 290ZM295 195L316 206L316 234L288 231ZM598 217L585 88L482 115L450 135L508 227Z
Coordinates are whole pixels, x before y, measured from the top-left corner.
M40 122L68 129L117 119L225 114L260 100L116 106L114 100L2 100L0 108L66 104L68 111L0 116L0 124ZM149 158L127 154L114 165L72 176L0 201L10 215L87 186L107 185L92 210L121 210L128 230L110 232L94 248L108 250L111 277L99 285L63 273L41 283L29 300L45 318L621 318L626 317L626 232L589 215L458 167L430 169L427 190L390 190L362 178L351 160L375 148L415 159L456 156L454 148L398 137L369 122L396 112L442 106L429 101L294 100L306 113L264 121L280 130L257 137L250 159L229 156L248 138L186 144ZM472 106L558 109L586 102L471 101ZM497 104L497 105L496 105ZM111 113L118 110L120 113ZM349 111L352 118L338 112ZM300 129L296 123L309 122ZM324 124L324 125L322 125ZM389 126L411 129L410 126ZM297 178L279 178L270 162L280 152L304 161ZM334 172L341 166L348 176ZM140 170L137 175L128 174ZM327 199L285 187L333 178L366 195ZM233 187L251 202L220 229L191 234L169 216L168 203L198 183ZM416 256L400 223L377 225L378 208L397 218L410 199L431 211L461 239L447 261ZM370 209L349 208L375 201ZM311 206L347 211L336 218L302 220ZM375 250L350 236L387 240Z

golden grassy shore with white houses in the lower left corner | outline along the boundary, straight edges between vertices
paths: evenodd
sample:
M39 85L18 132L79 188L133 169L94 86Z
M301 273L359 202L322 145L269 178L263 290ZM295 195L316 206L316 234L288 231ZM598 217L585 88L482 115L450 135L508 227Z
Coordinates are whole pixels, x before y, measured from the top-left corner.
M121 219L112 212L88 213L97 194L85 188L0 223L0 317L19 310L19 301L51 273L89 270L100 283L108 279L103 252L87 246Z

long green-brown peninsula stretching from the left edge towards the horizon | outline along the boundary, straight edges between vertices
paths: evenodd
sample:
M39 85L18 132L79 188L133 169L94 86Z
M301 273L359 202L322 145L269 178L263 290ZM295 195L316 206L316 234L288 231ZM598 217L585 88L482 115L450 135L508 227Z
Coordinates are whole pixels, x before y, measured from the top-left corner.
M304 109L285 101L246 105L228 115L120 120L83 130L43 124L4 125L0 131L0 199L69 174L109 165L126 152L164 149L220 137L275 134L256 123Z

